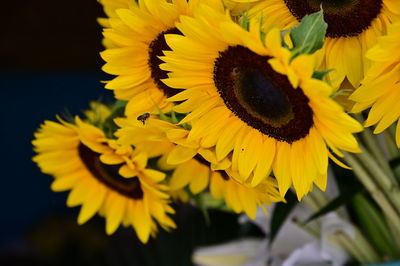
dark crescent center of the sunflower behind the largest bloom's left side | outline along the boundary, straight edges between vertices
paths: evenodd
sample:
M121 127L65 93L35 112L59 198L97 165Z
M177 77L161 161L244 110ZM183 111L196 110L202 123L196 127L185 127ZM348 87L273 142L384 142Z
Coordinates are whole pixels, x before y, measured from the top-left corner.
M178 93L178 90L165 85L161 80L168 78L168 72L160 69L160 64L164 63L159 56L163 56L163 51L171 51L167 42L165 41L165 34L179 34L182 33L177 28L172 28L161 32L149 45L149 61L148 65L151 69L151 77L156 83L157 87L164 93L165 96L171 97Z

